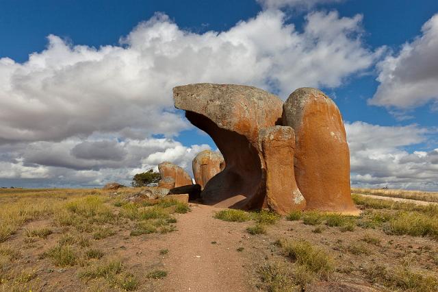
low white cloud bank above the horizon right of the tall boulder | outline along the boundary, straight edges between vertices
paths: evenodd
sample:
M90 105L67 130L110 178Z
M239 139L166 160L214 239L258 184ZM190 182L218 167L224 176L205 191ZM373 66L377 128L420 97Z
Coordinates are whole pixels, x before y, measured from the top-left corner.
M438 149L411 153L404 149L419 147L433 130L417 125L381 126L357 121L346 123L346 131L352 186L438 189Z

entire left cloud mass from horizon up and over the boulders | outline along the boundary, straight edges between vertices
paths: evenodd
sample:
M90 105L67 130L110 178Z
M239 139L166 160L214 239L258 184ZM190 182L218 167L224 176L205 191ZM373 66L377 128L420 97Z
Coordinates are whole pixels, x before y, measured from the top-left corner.
M361 15L312 12L301 31L286 18L270 9L227 31L197 34L155 14L119 45L50 35L47 49L26 62L0 58L0 180L126 182L164 160L190 171L208 146L175 141L190 125L173 107L172 87L248 84L284 99L301 86L339 86L379 54L361 41Z

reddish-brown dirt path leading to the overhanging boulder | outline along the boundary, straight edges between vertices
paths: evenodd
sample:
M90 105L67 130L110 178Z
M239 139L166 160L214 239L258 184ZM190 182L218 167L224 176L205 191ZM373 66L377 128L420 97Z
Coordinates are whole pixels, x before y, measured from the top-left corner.
M214 219L211 206L194 205L178 217L177 232L167 236L168 256L163 260L168 276L165 291L251 291L244 267L246 258L240 224ZM216 243L215 243L216 242Z

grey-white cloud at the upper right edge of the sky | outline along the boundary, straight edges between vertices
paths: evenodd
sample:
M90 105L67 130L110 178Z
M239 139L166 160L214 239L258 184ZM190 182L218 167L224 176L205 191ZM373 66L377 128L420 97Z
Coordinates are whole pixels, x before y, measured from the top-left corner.
M422 35L377 65L377 88L370 104L400 109L438 102L438 14L424 23Z

